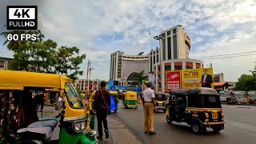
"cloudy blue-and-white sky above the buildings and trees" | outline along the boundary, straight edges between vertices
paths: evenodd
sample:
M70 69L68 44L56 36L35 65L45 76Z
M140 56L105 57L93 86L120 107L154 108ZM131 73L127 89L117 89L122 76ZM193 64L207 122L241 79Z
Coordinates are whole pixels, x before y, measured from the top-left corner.
M6 6L12 5L37 5L38 29L46 38L87 54L82 70L88 60L109 62L116 50L147 54L158 46L154 35L177 25L190 35L190 58L213 63L214 74L223 72L225 81L249 74L256 62L255 0L1 0L0 32L6 31ZM12 58L3 42L0 56ZM92 63L91 78L109 78L106 62Z

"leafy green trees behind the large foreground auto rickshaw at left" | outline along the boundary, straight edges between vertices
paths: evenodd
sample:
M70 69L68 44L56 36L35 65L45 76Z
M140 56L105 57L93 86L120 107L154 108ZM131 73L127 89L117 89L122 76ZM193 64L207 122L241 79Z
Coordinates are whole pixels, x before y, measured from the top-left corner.
M8 34L37 34L37 41L8 41ZM86 54L79 55L78 47L60 46L51 39L43 40L40 30L2 32L6 38L3 45L14 51L14 60L8 65L10 70L27 70L50 74L64 74L72 79L82 75L80 70Z

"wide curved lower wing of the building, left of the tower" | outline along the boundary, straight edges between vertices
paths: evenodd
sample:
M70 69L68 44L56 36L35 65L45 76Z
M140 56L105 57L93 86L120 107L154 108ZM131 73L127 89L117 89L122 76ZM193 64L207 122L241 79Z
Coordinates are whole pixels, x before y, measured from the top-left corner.
M149 56L123 54L116 51L111 54L110 58L110 79L121 81L130 76L134 72L144 70L145 74L149 73Z

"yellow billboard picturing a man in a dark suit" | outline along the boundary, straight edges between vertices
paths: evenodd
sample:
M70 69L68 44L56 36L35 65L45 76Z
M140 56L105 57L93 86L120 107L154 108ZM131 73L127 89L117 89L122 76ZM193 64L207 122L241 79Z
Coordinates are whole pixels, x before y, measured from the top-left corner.
M210 87L214 89L212 68L186 69L182 71L182 89Z

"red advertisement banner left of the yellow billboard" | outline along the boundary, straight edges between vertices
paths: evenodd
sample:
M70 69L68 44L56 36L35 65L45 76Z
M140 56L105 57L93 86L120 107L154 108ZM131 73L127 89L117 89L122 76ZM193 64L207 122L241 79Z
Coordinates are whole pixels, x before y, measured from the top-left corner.
M166 92L179 89L181 85L181 71L166 71Z

